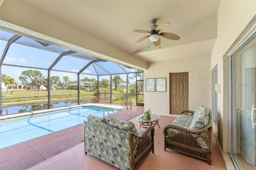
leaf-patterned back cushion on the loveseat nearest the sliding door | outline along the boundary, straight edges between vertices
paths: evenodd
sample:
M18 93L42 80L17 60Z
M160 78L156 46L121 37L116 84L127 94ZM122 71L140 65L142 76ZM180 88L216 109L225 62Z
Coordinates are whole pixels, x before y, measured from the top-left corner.
M210 109L200 106L194 113L192 123L188 127L189 130L197 131L205 128L209 123Z

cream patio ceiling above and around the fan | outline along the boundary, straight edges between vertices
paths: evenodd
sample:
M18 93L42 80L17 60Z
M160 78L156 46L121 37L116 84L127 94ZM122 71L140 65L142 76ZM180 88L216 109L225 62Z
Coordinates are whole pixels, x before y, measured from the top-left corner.
M20 2L147 62L210 55L217 38L218 0ZM170 23L164 32L177 34L180 40L161 38L160 47L148 39L134 44L148 33L132 30L149 30L154 18L156 25Z

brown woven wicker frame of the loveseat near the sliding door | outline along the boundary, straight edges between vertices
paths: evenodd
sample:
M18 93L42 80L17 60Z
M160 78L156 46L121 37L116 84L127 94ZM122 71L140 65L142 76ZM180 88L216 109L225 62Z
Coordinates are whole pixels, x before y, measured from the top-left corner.
M209 109L210 110L210 109ZM194 116L194 111L184 110L180 115L186 115L187 125ZM174 120L175 121L175 120ZM185 126L185 125L184 125ZM209 112L209 123L201 130L192 131L177 125L166 125L164 127L164 150L166 148L207 160L212 164L212 114Z

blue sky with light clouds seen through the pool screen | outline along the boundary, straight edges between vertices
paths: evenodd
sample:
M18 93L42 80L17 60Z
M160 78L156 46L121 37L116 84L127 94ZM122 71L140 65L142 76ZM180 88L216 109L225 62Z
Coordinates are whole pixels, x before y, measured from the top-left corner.
M1 31L1 33L3 34L2 31ZM31 41L31 39L28 39L28 40ZM32 40L32 41L34 41L34 40ZM4 52L6 44L7 44L7 41L0 40L1 56ZM64 49L64 50L68 51L67 49ZM29 46L22 45L19 43L12 43L8 49L8 52L5 56L5 58L4 58L3 64L42 68L42 69L37 69L37 70L40 71L43 74L43 76L47 77L47 75L48 75L47 69L52 65L52 63L57 59L57 57L59 55L60 55L60 53L46 51L46 50L38 49L35 47L29 47ZM78 72L88 63L89 63L89 61L87 61L87 60L66 55L66 56L63 56L60 59L60 61L58 61L58 63L53 67L53 69ZM107 68L107 71L109 71L112 74L125 73L120 67L118 67L116 65L116 63L100 62L99 64L101 67ZM98 65L94 65L94 67L98 71L99 75L108 74L106 71L104 71ZM81 74L80 79L83 79L84 77L88 77L90 79L92 79L92 78L97 79L97 76L96 76L97 73L96 73L94 67L92 65L90 65L86 70L84 70L83 73L86 73L88 75ZM22 71L29 70L29 69L34 70L34 68L12 67L12 66L2 65L1 71L2 71L2 74L8 75L8 76L14 78L14 81L21 83L21 81L19 80L19 77L21 76ZM126 71L128 71L128 72L134 72L134 69L129 69L127 67L125 67L124 69L126 69ZM77 81L76 73L67 73L67 72L62 72L62 71L51 71L50 76L51 77L59 76L62 82L63 82L64 76L68 76L70 78L70 81ZM131 77L131 76L132 75L129 74L129 77ZM126 74L120 74L120 77L124 81L126 81ZM102 78L110 80L109 75L108 76L100 76L100 79L102 79ZM134 83L134 80L130 80L130 82Z

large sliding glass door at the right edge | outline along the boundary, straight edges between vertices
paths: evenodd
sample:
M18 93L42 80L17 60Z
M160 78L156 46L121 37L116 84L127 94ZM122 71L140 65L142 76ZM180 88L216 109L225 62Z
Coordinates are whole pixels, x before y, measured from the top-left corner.
M239 170L256 169L256 36L229 56L230 156Z

